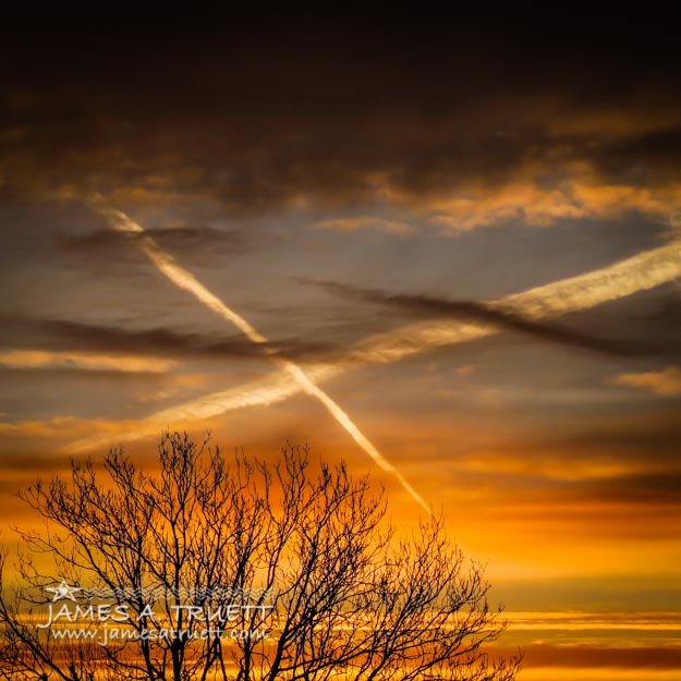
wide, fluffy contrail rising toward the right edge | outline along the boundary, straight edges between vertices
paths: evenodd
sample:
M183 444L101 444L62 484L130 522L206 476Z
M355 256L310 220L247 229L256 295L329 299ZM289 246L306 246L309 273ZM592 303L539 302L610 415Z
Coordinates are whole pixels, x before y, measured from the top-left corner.
M134 224L134 223L133 223ZM139 228L141 229L141 228ZM596 305L647 291L681 277L681 241L639 253L607 267L514 293L488 304L513 309L531 318L588 309ZM362 364L387 364L433 348L484 338L498 328L457 321L421 321L389 332L370 336L350 349L340 364L315 364L307 375L315 382L338 376L344 368ZM137 423L127 437L145 437L158 430L158 424L192 418L209 418L245 406L268 405L297 394L300 384L283 381L279 375L205 394L183 404L156 412ZM70 451L87 451L105 446L108 436L94 436L72 442Z

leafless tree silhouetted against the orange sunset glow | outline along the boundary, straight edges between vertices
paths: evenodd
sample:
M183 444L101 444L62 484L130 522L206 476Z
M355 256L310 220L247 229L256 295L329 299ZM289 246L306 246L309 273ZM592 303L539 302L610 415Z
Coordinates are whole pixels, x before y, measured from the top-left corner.
M228 466L165 434L159 464L112 449L23 492L46 527L17 530L0 678L514 679L520 656L485 652L506 622L482 569L441 520L398 539L382 489L306 448Z

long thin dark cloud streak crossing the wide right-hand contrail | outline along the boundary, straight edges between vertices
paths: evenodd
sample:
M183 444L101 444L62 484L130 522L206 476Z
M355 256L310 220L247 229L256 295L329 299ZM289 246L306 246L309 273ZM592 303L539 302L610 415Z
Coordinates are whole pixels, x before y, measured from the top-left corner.
M386 293L336 282L311 282L327 291L355 301L392 308L403 315L421 319L453 318L491 325L518 331L538 340L571 348L592 350L613 356L647 356L659 352L653 343L601 338L566 326L530 319L510 307L473 301L452 301L428 295Z

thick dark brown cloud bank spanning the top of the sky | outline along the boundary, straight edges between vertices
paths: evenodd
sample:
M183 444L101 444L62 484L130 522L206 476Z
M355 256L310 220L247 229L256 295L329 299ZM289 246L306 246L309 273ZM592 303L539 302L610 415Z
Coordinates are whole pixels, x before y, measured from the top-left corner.
M575 172L656 189L681 170L677 36L656 25L631 50L592 19L569 39L423 19L9 32L0 169L17 192L234 216L560 190Z

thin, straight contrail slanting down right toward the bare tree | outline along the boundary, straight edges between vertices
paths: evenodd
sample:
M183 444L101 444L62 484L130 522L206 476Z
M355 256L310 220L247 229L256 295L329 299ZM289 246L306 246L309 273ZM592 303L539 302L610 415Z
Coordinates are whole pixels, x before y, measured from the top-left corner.
M215 293L209 291L194 275L178 265L172 256L166 253L148 234L145 233L142 226L131 220L124 212L117 210L111 206L104 204L101 200L96 199L90 202L90 205L101 216L104 216L109 224L119 232L136 235L136 244L139 250L156 265L172 283L180 289L191 293L199 303L203 303L206 307L214 313L231 321L240 331L246 336L253 343L262 345L267 343L267 339L257 329L244 319L239 313L228 307ZM269 351L269 352L268 352ZM357 428L350 416L337 404L321 388L319 388L311 378L303 372L303 369L279 355L271 354L271 349L266 348L266 354L270 354L270 361L283 369L293 378L293 380L304 390L307 394L311 394L338 421L338 423L345 428L352 439L377 463L384 471L392 473L402 487L417 501L427 513L430 513L428 504L423 500L418 492L406 482L404 476L396 469L368 440L368 438Z

